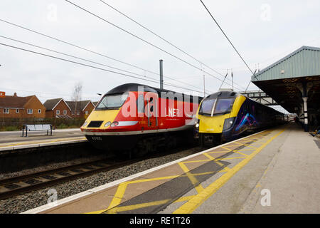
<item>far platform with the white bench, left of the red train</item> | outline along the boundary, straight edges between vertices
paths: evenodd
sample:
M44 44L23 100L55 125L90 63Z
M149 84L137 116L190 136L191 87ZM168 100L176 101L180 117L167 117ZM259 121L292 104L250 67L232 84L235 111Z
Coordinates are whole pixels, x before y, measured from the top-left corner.
M21 131L0 132L0 152L87 141L80 128L53 130L52 135L46 135L46 131L28 132L28 137L21 135Z

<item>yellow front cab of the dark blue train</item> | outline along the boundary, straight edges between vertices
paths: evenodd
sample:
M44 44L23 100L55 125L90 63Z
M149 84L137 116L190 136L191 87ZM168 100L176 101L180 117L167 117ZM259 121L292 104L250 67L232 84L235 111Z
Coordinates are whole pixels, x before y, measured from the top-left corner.
M236 93L218 92L208 95L199 106L195 130L201 146L223 142L231 134L236 113Z

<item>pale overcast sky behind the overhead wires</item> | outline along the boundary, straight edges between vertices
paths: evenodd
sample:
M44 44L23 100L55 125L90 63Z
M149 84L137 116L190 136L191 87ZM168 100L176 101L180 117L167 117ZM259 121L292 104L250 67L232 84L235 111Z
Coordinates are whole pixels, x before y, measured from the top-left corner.
M95 13L107 21L120 26L134 35L159 46L159 48L201 68L193 58L186 56L168 43L161 41L142 27L106 6L99 0L70 0ZM225 75L233 69L235 90L245 90L251 73L235 53L230 43L210 18L201 1L198 0L105 0L114 8L135 19L140 24L174 43L191 56ZM265 68L301 46L320 46L320 1L203 1L215 19L229 36L252 71ZM164 83L203 91L203 72L150 46L143 41L115 28L105 21L78 9L63 0L1 0L0 19L35 31L74 43L119 61L139 66L147 71L124 65L109 58L80 50L73 46L54 41L36 33L17 28L0 21L0 36L33 43L37 46L68 53L79 58L131 71L142 76L159 76L159 59L164 60ZM0 43L18 46L48 55L67 58L100 68L95 63L80 61L58 53L45 51L26 44L0 37ZM97 93L123 83L144 83L159 86L136 78L79 66L34 53L16 50L0 45L0 90L6 95L33 95L44 102L48 98L63 97L70 100L73 87L82 83L82 99L99 100ZM220 87L223 76L204 66L212 76L205 73L207 93L214 93ZM112 70L117 71L117 70ZM118 71L120 72L120 71ZM122 72L123 73L123 72ZM137 75L135 75L137 76ZM175 78L183 83L172 81ZM141 76L138 76L141 77ZM228 76L230 78L230 76ZM230 81L227 81L230 83ZM186 89L164 86L170 90L186 92ZM224 84L223 88L230 88ZM250 84L249 90L257 89ZM203 95L203 93L201 94Z

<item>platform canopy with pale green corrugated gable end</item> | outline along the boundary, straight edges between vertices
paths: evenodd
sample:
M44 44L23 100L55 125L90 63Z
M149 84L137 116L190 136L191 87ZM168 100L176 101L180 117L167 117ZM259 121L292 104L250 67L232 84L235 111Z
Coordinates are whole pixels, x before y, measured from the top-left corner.
M289 113L320 112L320 48L302 46L252 76L252 83Z

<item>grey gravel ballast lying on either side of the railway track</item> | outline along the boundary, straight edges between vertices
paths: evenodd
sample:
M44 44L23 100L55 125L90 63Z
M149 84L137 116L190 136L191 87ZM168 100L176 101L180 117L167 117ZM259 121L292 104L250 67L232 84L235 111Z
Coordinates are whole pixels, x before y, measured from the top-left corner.
M177 160L181 157L186 157L188 155L191 155L199 151L201 151L200 147L194 147L192 149L183 150L180 152L173 153L171 155L164 155L162 157L149 158L147 160L136 162L132 165L120 167L116 170L100 172L95 175L91 175L89 177L82 177L77 180L61 183L59 185L55 185L52 187L47 187L43 190L28 192L23 195L18 195L8 199L3 199L3 200L0 200L0 214L21 213L21 212L25 212L28 209L33 209L36 207L40 207L43 204L47 204L48 198L51 196L51 195L48 195L47 192L48 190L53 188L58 193L58 199L63 199L65 197L69 197L70 195L75 195L85 190L90 190L93 187L98 187L108 182L112 182L114 180L119 180L121 178L134 175L137 172L149 170L152 167L163 165L167 162ZM66 165L65 162L63 163L64 163L63 165ZM57 164L53 166L57 167L56 165ZM44 167L39 167L37 169L44 169ZM48 169L48 166L46 166L46 169ZM35 172L39 170L36 170L36 169L23 170L21 172L12 173L11 176L21 175L22 173L26 174L31 171ZM3 176L9 177L10 175L9 174L0 175L0 178L3 178Z

